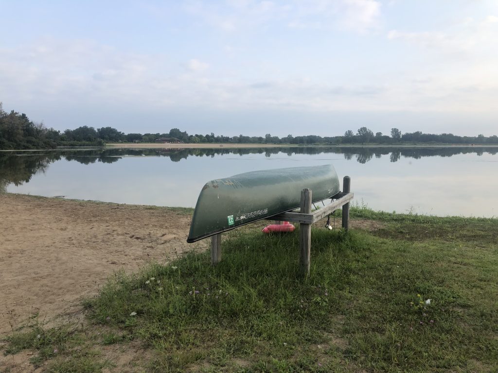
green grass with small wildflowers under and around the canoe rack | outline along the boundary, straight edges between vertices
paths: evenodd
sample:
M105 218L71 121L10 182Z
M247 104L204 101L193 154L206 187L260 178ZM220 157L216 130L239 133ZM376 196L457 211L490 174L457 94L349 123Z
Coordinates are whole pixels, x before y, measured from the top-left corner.
M34 349L51 372L101 372L95 350L136 343L148 372L497 372L497 219L351 216L382 228L314 227L307 280L297 231L249 225L224 235L216 267L190 253L113 276L85 302L94 334L61 327L37 342L33 329L4 352Z

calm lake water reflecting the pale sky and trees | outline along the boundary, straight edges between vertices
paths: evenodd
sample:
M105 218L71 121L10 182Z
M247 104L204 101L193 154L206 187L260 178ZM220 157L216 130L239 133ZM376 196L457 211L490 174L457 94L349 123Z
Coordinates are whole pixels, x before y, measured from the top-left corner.
M0 152L0 189L193 207L203 185L254 170L331 163L373 209L498 216L498 148L94 149Z

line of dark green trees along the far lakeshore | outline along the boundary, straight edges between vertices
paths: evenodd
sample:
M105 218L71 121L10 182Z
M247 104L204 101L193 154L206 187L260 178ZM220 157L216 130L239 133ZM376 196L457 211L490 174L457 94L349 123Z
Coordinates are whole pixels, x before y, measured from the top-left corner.
M159 140L157 140L159 139ZM0 150L5 149L43 149L58 146L103 146L106 142L183 142L183 143L232 143L232 144L296 144L296 145L339 145L339 144L498 144L498 136L457 136L451 133L429 134L417 132L401 133L392 128L390 135L382 132L373 133L367 127L361 127L355 133L348 130L343 136L223 136L211 134L189 135L178 128L168 133L128 133L124 134L113 127L81 126L60 132L46 128L43 123L29 120L26 114L11 111L6 113L0 102Z

